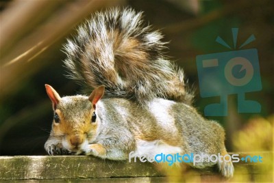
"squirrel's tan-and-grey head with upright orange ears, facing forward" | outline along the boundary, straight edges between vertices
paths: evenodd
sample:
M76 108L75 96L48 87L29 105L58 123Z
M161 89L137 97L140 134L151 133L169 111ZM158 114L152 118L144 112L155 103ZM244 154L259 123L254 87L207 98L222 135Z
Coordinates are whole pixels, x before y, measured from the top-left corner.
M51 137L62 138L62 146L66 150L79 153L95 137L100 120L96 106L105 87L97 87L89 97L78 95L62 98L50 85L45 87L53 106Z

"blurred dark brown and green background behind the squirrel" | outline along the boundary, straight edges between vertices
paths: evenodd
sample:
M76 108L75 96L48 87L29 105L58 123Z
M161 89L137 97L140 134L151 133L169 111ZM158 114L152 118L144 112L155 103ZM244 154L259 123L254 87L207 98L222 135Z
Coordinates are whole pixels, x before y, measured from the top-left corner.
M202 115L206 104L218 102L219 97L200 98L196 56L228 51L215 39L221 36L232 45L233 27L239 28L239 44L254 34L256 41L243 49L258 49L262 91L247 98L260 102L261 113L237 113L232 95L227 116L207 117L225 127L229 151L234 150L234 132L249 119L274 113L273 0L0 1L0 155L46 154L43 147L53 116L45 83L62 96L81 92L64 76L62 44L91 12L127 5L143 11L145 20L170 41L166 55L184 68L196 91L194 106Z

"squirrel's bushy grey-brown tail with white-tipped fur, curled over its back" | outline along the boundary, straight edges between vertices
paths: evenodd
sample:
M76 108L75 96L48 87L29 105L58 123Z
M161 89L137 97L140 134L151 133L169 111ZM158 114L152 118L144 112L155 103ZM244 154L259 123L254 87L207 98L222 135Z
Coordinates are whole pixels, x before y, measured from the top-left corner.
M64 46L71 78L86 89L105 85L105 96L140 104L155 97L190 103L183 71L167 60L162 34L130 8L97 12Z

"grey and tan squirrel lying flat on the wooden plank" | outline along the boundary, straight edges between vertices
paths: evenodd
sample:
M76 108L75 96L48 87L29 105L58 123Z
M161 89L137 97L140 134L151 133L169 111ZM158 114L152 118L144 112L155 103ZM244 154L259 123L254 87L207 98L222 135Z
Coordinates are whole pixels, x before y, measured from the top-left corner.
M45 143L49 155L126 160L131 152L139 157L227 154L223 128L192 107L184 73L164 58L160 39L131 8L97 12L79 26L64 46L64 64L71 78L92 92L61 98L45 85L53 107ZM231 158L192 166L212 165L224 177L233 176Z

